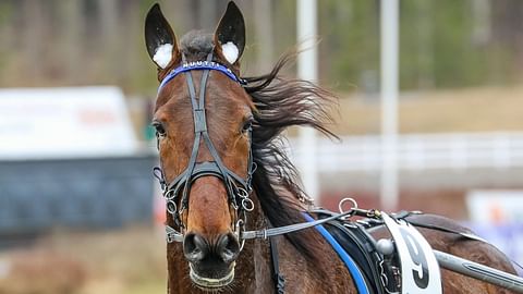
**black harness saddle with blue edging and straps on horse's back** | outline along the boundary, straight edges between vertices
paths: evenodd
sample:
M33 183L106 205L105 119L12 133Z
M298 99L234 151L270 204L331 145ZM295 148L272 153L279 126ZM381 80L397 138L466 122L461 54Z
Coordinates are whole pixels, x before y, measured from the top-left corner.
M364 217L364 219L352 221L346 218L338 218L330 220L323 225L317 225L316 230L331 245L333 250L343 261L351 273L358 293L400 293L402 290L401 280L403 272L400 265L398 249L394 249L394 246L398 245L392 245L393 242L387 238L376 241L370 235L373 231L382 226L390 230L384 221L385 216L382 216L380 211L358 209L357 204L351 198L345 198L340 203L340 211L342 211L341 206L345 200L353 203L354 207L351 208L354 212L353 216ZM459 232L440 225L426 224L410 219L411 216L421 213L423 212L399 211L397 213L391 213L390 217L397 221L401 220L408 222L416 228L441 231L460 235L472 241L486 242L474 234ZM304 212L304 215L308 221L313 221L314 219L311 216L315 216L317 219L326 219L339 213L325 209L315 209L308 211L308 213Z

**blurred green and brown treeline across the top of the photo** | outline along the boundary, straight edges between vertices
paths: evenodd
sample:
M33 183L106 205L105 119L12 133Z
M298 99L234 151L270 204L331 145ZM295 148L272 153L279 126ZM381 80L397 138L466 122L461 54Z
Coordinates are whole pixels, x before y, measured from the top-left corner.
M0 87L117 84L154 93L143 42L153 0L1 0ZM179 35L212 30L227 0L160 1ZM247 74L295 46L295 0L241 0ZM320 82L379 86L379 0L318 0ZM401 0L403 89L523 81L523 1ZM290 69L292 71L292 69Z

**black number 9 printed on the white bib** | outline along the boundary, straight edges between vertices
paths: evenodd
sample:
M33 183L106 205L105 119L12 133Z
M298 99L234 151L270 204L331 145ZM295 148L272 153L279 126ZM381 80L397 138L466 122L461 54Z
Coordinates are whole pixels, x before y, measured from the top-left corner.
M411 260L415 265L415 268L412 270L412 278L419 289L426 289L428 286L428 264L422 246L404 228L400 228L400 232L405 241Z

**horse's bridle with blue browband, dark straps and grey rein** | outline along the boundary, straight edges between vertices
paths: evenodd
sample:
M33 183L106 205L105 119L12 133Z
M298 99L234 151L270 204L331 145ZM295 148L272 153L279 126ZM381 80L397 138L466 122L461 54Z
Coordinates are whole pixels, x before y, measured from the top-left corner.
M196 99L196 89L194 87L192 71L204 71L200 79L199 87L199 97ZM187 82L188 94L191 97L191 106L193 110L193 122L194 122L194 143L191 152L191 157L187 163L187 167L183 172L181 172L174 180L170 183L167 183L165 179L163 169L160 167L154 168L154 175L158 179L160 187L162 189L163 197L166 199L167 211L171 215L175 225L179 230L166 224L166 238L168 243L173 242L183 242L184 240L184 230L186 229L185 224L182 221L182 213L185 209L188 208L188 191L191 184L199 177L203 176L216 176L220 179L227 189L228 201L235 210L236 220L233 221L233 230L241 241L241 248L243 248L245 240L250 238L268 238L270 236L282 235L295 231L301 231L308 229L335 219L350 217L355 213L356 210L350 209L343 211L340 215L336 215L329 218L312 221L312 222L302 222L296 224L290 224L284 226L263 229L258 231L245 231L246 223L246 212L250 212L254 209L254 203L250 198L253 187L252 180L256 171L256 162L253 160L253 150L252 150L252 126L246 130L248 133L250 148L248 148L248 163L246 179L238 175L233 171L229 170L222 162L220 155L216 150L208 133L207 128L207 118L205 113L205 93L207 87L207 79L209 77L210 71L218 71L227 75L230 79L239 83L242 86L246 85L246 82L239 76L236 76L230 69L227 66L212 61L212 52L207 56L205 61L194 61L186 62L185 56L182 54L182 65L173 69L169 74L161 81L160 86L158 87L158 94L161 89L175 76L184 73ZM157 133L157 139L159 140L159 134ZM200 142L204 142L204 145L210 152L212 157L211 161L196 162ZM159 144L158 144L159 148ZM161 166L161 162L160 162ZM181 197L181 198L180 198ZM180 208L178 208L177 203L180 203Z

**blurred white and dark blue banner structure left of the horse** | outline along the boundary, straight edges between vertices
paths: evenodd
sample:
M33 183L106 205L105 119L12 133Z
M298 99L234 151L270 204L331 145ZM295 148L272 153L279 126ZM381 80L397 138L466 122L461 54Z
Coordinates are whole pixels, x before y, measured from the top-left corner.
M138 149L120 88L0 89L0 245L59 226L150 223L156 161Z

